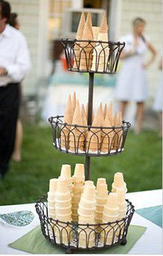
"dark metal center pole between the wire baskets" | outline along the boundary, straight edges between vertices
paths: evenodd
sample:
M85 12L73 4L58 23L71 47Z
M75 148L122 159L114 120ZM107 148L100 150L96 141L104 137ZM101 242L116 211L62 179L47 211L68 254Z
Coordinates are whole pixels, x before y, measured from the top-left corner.
M94 73L89 73L89 89L88 89L88 126L92 124L93 116L93 80ZM90 157L86 156L86 180L89 179Z

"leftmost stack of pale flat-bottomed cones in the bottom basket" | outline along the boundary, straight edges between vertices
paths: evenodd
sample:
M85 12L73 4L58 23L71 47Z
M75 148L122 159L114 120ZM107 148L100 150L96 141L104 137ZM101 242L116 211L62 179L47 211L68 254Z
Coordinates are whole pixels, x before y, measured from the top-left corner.
M48 191L48 216L55 219L55 191L57 189L57 178L50 179Z

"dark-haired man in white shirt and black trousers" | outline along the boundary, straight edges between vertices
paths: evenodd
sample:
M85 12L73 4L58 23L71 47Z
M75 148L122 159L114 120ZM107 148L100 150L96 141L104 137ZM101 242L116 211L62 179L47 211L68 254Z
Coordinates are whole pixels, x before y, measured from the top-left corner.
M8 25L10 4L0 0L0 178L8 170L15 144L19 83L30 69L26 38Z

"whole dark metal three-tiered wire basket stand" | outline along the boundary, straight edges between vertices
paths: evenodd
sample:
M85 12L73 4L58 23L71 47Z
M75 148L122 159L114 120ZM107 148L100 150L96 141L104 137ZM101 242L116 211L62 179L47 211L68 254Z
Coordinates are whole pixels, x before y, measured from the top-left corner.
M122 126L118 127L93 127L92 115L93 115L93 80L94 74L115 74L117 70L117 65L119 61L119 56L125 43L121 42L102 42L102 41L91 41L91 40L69 40L62 39L61 44L64 46L64 51L66 55L66 64L69 71L75 72L87 72L89 74L89 85L88 85L88 126L79 126L77 124L70 124L63 122L63 116L50 117L49 122L52 126L53 135L53 145L58 151L64 153L70 153L73 155L86 156L86 180L89 179L90 173L90 157L100 157L100 156L110 156L117 155L124 150L124 143L126 140L126 135L128 133L128 128L131 124L122 121ZM79 56L76 56L75 46L80 49ZM97 51L101 47L101 51ZM89 53L86 49L90 49ZM109 54L106 55L106 49L108 49ZM92 53L95 61L95 69L91 70L90 62L92 61ZM81 69L81 56L85 58L85 69ZM84 56L84 57L83 57ZM104 67L100 67L100 56L104 58ZM82 60L83 61L83 60ZM75 65L74 65L75 64ZM101 65L102 66L102 65ZM74 68L75 67L75 68ZM99 69L100 67L100 69ZM100 70L100 71L99 71ZM74 150L70 150L70 145L67 139L67 134L64 131L68 130L68 136L73 135L74 138ZM78 131L79 136L75 137L75 131ZM82 130L82 131L81 131ZM97 137L97 148L96 151L90 150L90 143L84 141L84 148L81 151L79 148L79 139L81 135L86 135L88 131L95 130L95 136L97 133L103 133L104 137L108 138L107 151L102 151L102 142L99 142ZM93 132L94 133L94 132ZM110 135L114 134L113 137ZM62 135L62 137L61 137ZM64 135L64 136L63 136ZM85 136L86 137L86 136ZM64 147L62 146L63 138L65 138ZM91 139L90 139L91 142ZM106 248L112 247L116 244L126 244L126 234L128 232L128 226L131 222L134 213L134 207L131 202L127 201L127 211L126 217L122 220L111 222L111 223L98 223L98 224L79 224L73 222L64 222L52 219L48 217L48 206L47 198L41 198L37 201L36 210L39 214L39 219L41 221L41 230L44 237L48 239L52 244L58 244L67 248L67 253L72 253L72 249L83 249L79 246L79 235L81 232L86 234L86 249L95 248ZM59 239L56 237L59 232ZM69 228L69 229L68 229ZM67 230L70 230L68 232ZM86 230L86 231L84 231ZM65 241L66 232L66 241ZM90 243L91 234L95 234L95 241ZM101 236L101 234L103 235ZM63 235L64 234L64 235ZM112 234L112 241L108 243L107 239L109 235Z

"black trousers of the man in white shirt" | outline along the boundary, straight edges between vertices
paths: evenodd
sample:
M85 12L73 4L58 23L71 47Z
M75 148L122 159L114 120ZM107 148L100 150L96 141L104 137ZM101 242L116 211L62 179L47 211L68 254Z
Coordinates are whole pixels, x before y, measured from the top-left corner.
M19 83L0 87L0 173L8 170L15 146L19 111Z

